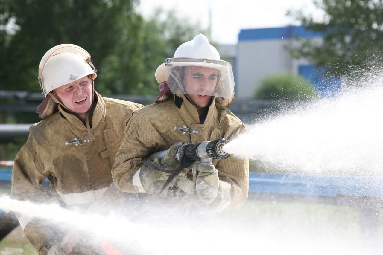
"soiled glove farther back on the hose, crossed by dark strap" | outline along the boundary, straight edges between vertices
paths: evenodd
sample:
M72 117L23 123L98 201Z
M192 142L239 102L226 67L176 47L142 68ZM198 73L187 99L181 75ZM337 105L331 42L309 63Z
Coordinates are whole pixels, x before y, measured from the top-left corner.
M169 150L165 153L163 158L156 158L154 159L154 163L156 165L159 165L162 168L165 168L167 170L172 170L176 168L179 165L178 160L175 158L175 154L178 151L178 148L181 147L182 143L177 142L176 144L172 145ZM181 172L179 175L185 174ZM142 187L144 190L152 195L160 195L165 196L167 191L169 190L170 186L174 186L174 182L177 181L177 178L174 178L174 180L164 189L164 191L161 194L158 194L164 186L166 180L169 178L170 173L164 173L160 172L158 170L154 170L150 167L147 167L146 165L142 164L141 170L140 170L140 181L142 184Z

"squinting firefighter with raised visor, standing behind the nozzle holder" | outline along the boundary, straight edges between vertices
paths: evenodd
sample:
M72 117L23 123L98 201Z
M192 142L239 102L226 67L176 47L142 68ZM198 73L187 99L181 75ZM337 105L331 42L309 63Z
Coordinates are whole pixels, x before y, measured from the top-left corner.
M142 105L100 96L93 88L96 72L90 54L73 44L60 44L43 56L38 78L45 99L37 109L43 120L29 128L16 156L14 198L48 203L53 195L67 208L86 209L113 183L111 168L126 120ZM46 178L49 191L42 186ZM40 254L65 254L62 226L27 215L18 219ZM103 253L84 240L72 254Z

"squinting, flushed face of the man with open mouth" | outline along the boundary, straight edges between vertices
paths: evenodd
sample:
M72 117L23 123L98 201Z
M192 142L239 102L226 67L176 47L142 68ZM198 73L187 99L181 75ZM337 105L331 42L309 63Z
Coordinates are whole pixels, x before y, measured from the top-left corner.
M92 106L93 88L88 76L54 89L53 95L70 111L85 114Z

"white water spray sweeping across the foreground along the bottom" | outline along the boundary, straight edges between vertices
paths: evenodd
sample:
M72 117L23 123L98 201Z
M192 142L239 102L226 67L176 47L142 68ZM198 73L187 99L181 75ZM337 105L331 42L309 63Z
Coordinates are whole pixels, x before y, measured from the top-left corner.
M327 238L334 231L331 222L326 225L328 230L322 226L326 231L321 234L321 231L304 224L295 226L296 221L291 219L282 224L285 226L283 229L275 219L260 220L256 217L257 220L249 221L243 218L243 214L242 217L239 216L239 211L229 217L213 217L206 226L201 226L197 221L188 226L177 218L174 219L174 224L163 226L150 219L131 218L129 215L124 217L113 213L84 214L52 204L18 201L8 196L0 196L0 208L43 218L49 224L57 224L57 227L65 224L82 230L85 234L91 233L95 240L108 240L112 244L118 244L117 247L127 249L129 253L126 254L362 254L355 249L355 245L350 245L357 242L347 232ZM257 214L257 207L249 209L252 214ZM299 213L295 211L294 215L302 223ZM310 235L312 237L308 238Z

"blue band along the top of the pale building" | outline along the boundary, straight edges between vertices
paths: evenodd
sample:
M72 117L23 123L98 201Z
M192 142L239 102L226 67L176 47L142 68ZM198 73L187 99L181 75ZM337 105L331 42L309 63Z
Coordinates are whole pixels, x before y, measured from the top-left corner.
M292 36L300 38L313 38L322 36L322 33L306 31L304 26L286 26L280 28L256 28L241 29L238 35L238 42L249 40L266 39L290 39Z

